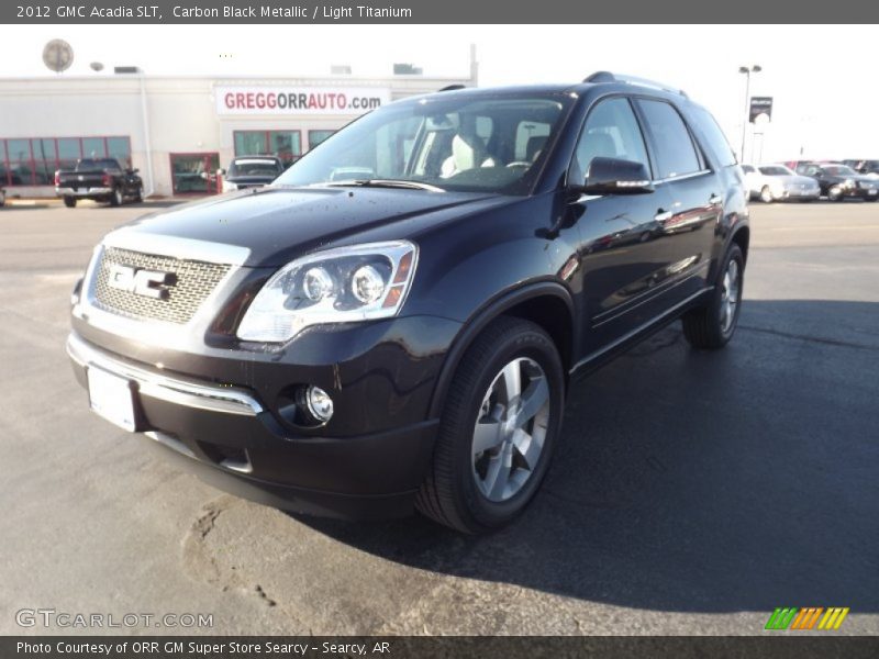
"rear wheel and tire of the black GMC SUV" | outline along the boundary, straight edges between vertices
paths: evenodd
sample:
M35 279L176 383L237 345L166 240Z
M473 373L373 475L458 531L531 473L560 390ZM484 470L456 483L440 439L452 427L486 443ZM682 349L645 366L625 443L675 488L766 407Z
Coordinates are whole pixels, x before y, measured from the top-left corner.
M711 299L682 319L683 336L692 347L716 350L730 343L738 324L744 275L745 258L738 245L733 243Z

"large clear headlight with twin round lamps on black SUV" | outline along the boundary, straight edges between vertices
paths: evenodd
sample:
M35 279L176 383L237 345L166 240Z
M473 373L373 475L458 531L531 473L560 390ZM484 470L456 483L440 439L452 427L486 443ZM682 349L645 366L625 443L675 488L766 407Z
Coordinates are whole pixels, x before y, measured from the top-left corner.
M278 270L257 293L238 325L238 338L291 339L305 327L396 315L418 263L408 241L327 249Z

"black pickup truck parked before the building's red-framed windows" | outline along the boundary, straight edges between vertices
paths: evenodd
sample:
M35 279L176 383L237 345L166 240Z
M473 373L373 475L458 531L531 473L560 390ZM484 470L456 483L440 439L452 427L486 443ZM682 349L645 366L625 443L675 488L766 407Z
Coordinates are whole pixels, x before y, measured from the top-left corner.
M141 201L144 182L136 169L123 168L115 158L82 158L73 169L55 172L55 193L68 209L80 199L120 205L126 198Z

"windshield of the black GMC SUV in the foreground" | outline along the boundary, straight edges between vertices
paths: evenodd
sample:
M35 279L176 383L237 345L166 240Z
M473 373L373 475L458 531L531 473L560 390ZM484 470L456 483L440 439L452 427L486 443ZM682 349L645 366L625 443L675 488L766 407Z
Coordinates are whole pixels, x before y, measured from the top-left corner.
M526 194L574 99L454 94L391 104L340 131L275 185L364 185Z

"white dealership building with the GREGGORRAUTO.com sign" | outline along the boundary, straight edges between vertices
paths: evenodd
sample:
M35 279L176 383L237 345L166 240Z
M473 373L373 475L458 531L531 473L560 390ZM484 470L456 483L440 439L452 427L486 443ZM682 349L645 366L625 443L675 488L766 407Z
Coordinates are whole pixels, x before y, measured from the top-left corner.
M9 197L54 197L55 171L79 158L137 168L146 194L210 194L234 156L275 154L286 164L365 112L468 77L411 67L382 78L110 75L0 78L0 187ZM335 70L337 67L334 67ZM347 71L347 67L341 67Z

